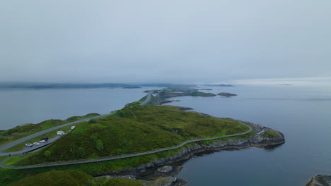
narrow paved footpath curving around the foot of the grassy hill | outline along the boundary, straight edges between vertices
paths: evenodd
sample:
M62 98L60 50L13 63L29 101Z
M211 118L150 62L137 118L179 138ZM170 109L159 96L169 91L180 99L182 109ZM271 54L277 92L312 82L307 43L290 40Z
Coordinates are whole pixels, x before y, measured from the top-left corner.
M86 160L77 160L77 161L62 161L62 162L54 162L54 163L42 163L42 164L36 164L36 165L31 165L31 166L5 166L4 163L6 161L8 161L8 159L6 159L6 160L0 162L0 167L1 168L10 168L10 169L44 168L44 167L50 167L50 166L67 166L67 165L73 165L73 164L79 164L79 163L93 163L93 162L98 162L98 161L126 159L126 158L131 158L131 157L136 157L136 156L144 156L144 155L147 155L147 154L153 154L153 153L160 152L160 151L168 151L168 150L178 149L180 147L183 147L185 144L188 144L188 143L191 143L191 142L216 140L216 139L220 139L220 138L224 138L224 137L235 137L235 136L248 134L249 132L252 131L252 128L249 125L241 122L240 120L237 120L237 121L238 121L238 123L248 127L249 130L246 131L246 132L241 132L241 133L234 134L234 135L223 135L223 136L219 136L219 137L209 137L209 138L204 138L204 139L187 140L185 142L182 142L182 144L179 144L178 146L175 146L175 147L167 147L167 148L163 148L163 149L156 149L156 150L141 152L141 153L137 153L137 154L126 154L126 155L122 155L122 156L111 156L111 157L104 157L104 158L99 158L99 159L86 159Z

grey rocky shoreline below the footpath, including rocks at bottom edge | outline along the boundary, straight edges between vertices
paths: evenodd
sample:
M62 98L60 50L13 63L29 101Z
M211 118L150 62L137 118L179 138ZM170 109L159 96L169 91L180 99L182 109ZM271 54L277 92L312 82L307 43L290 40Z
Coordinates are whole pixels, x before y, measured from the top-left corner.
M207 151L220 151L224 149L244 149L248 147L267 147L277 144L283 144L285 142L284 135L278 130L272 130L262 125L255 123L245 122L252 127L255 135L252 135L247 139L236 139L236 140L214 140L211 144L204 144L196 142L193 146L185 147L180 153L167 158L158 159L144 165L128 168L121 171L115 171L111 173L104 173L101 175L95 175L96 177L108 176L109 178L123 178L123 176L129 176L127 178L134 178L134 180L141 180L144 185L153 185L156 180L162 179L164 182L161 185L177 186L184 185L186 182L179 178L173 177L180 172L180 168L173 167L171 170L177 171L159 171L160 167L166 169L171 163L185 161L190 159L191 156L198 153ZM156 170L158 168L158 170ZM124 177L125 178L125 177Z

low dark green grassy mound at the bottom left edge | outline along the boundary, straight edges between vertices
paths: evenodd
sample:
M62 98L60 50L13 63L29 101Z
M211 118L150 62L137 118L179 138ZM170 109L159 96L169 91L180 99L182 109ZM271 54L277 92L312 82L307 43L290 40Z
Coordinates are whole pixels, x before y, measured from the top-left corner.
M91 175L79 171L48 171L46 173L23 178L18 182L14 182L11 186L83 186L87 185L88 181L91 179Z

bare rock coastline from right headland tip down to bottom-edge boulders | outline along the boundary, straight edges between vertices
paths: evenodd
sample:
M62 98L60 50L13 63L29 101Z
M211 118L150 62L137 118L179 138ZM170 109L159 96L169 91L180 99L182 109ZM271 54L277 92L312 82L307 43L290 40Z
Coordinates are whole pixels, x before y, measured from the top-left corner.
M210 144L203 144L200 142L195 142L192 146L185 146L182 151L180 151L178 154L168 156L163 159L158 159L151 161L149 163L145 163L141 166L137 166L134 168L127 168L122 169L120 171L113 171L110 173L101 173L97 175L93 175L93 177L104 177L104 176L110 176L112 178L127 178L132 180L146 180L146 172L150 172L151 175L156 174L155 170L157 168L160 168L162 166L169 166L173 163L178 163L180 161L186 161L190 159L195 154L204 154L207 152L216 152L221 150L228 150L228 149L245 149L249 147L272 147L277 146L280 144L284 144L285 139L284 135L277 131L272 130L271 128L266 128L262 125L258 125L255 123L248 123L246 124L250 125L252 127L252 130L256 133L255 135L252 135L251 137L247 139L236 139L236 140L212 140ZM275 131L279 134L278 137L274 138L265 138L264 132L267 131ZM180 173L179 171L168 174L168 173L161 173L158 174L158 178L171 178L170 180L173 180L173 182L168 182L168 185L185 185L186 181L181 180L180 178L173 177L174 175L177 175ZM169 177L170 176L170 177ZM157 179L156 179L157 180Z

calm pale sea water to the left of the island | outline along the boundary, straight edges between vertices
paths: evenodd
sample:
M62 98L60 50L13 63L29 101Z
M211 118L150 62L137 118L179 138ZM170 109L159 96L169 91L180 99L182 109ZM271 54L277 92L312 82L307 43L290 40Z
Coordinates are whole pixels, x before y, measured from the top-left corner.
M108 113L144 97L146 89L0 89L0 130L86 113Z

